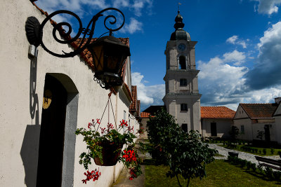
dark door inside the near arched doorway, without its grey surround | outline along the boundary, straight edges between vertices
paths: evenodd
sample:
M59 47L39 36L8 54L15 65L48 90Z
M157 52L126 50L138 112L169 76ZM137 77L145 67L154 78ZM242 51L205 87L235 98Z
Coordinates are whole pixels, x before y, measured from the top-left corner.
M51 104L42 109L37 187L61 186L67 92L56 78L46 75L44 91Z

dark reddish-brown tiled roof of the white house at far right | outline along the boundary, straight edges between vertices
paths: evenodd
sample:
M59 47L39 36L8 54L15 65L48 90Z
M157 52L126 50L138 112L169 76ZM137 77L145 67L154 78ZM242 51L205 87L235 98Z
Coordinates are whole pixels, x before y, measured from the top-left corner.
M272 118L277 104L245 104L240 103L242 109L248 114L249 118Z

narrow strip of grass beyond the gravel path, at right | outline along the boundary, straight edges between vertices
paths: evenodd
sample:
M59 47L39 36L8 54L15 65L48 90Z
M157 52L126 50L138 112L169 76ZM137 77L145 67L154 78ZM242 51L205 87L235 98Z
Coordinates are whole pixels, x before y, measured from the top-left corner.
M229 148L229 149L233 149L233 150L237 150L237 151L242 151L242 152L244 152L244 153L251 153L251 154L254 154L254 155L261 155L261 156L265 156L265 155L279 155L278 154L278 151L281 151L281 149L280 148L274 148L274 153L272 154L271 153L271 149L270 148L260 148L260 147L254 147L254 146L250 146L250 145L237 145L237 148L230 148L230 147L228 147L228 146L226 146L226 145L218 145L218 146L222 146L222 147L224 147L224 148ZM253 152L251 152L251 151L245 151L244 149L242 149L242 147L249 147L249 148L255 148L255 149L257 149L258 151L257 151L257 153L253 153ZM266 149L266 154L263 154L263 149Z

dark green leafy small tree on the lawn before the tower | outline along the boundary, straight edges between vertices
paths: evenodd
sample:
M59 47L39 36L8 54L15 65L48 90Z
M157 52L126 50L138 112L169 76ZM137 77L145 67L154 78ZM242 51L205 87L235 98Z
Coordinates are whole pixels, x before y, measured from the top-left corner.
M217 153L209 148L208 144L202 143L199 132L183 132L174 118L164 110L158 111L155 117L148 121L148 138L154 151L158 152L152 154L152 158L169 165L170 170L166 176L176 176L179 186L179 175L188 179L187 186L190 179L202 179L206 176L205 167L214 161L214 155Z

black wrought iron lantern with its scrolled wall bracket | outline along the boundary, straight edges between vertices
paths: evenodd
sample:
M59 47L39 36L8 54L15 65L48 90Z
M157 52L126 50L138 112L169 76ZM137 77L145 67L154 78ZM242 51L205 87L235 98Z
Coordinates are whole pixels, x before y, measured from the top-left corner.
M116 32L119 29L121 29L124 26L124 22L125 22L125 17L124 14L122 13L122 11L119 11L119 9L117 8L105 8L103 9L103 11L100 11L99 13L97 13L96 15L93 15L93 18L91 19L91 21L89 22L89 24L87 25L86 28L82 27L82 22L81 19L79 18L78 15L76 15L75 13L72 13L71 11L65 11L65 10L61 10L61 11L55 11L53 13L51 13L50 15L48 15L43 22L40 24L39 21L37 20L37 18L34 17L30 17L27 18L27 22L25 24L25 30L27 33L27 39L28 41L30 41L30 43L34 46L39 46L41 45L42 48L44 48L44 50L46 50L46 52L50 53L51 55L55 56L55 57L74 57L75 55L79 55L80 53L83 52L83 50L85 50L86 48L88 48L91 52L93 51L93 49L91 48L93 45L93 43L96 43L96 41L92 41L93 39L93 34L94 34L94 30L96 27L96 22L98 21L98 19L100 17L103 16L103 13L105 13L105 11L115 11L119 14L122 15L122 19L123 22L120 23L120 26L112 29L112 27L107 27L107 23L109 22L110 25L115 25L117 23L117 18L115 17L115 15L107 15L104 18L103 24L105 26L105 28L108 30L108 32L105 32L104 34L109 33L110 37L113 38L112 36L112 32ZM57 24L53 24L53 39L55 39L55 41L57 41L58 43L63 43L63 44L70 44L74 41L77 41L77 39L81 38L81 40L79 41L79 46L77 46L77 48L75 48L72 52L70 53L66 53L65 51L62 51L62 54L59 53L55 53L51 50L49 50L43 42L43 30L44 30L44 26L46 25L46 23L48 21L51 21L51 19L55 16L55 15L59 15L59 14L67 14L67 15L72 15L79 23L79 29L78 29L78 33L73 36L70 37L70 34L72 33L72 26L70 25L70 23L68 22L59 22ZM110 19L110 20L109 20ZM67 32L65 31L65 29L68 29ZM58 37L56 36L57 32L59 32L60 36L63 38L62 39L58 39ZM102 34L101 36L103 36L104 34ZM80 37L82 36L82 37ZM103 38L102 38L103 39ZM121 41L119 42L121 48L124 48L124 44L121 43ZM115 45L116 46L116 45ZM128 53L129 51L129 46L128 50L126 50L123 54L122 57L111 57L111 59L118 59L118 60L123 60L123 62L117 62L117 65L114 65L114 67L119 68L117 70L110 70L110 71L114 71L114 72L121 72L122 71L122 66L124 65L124 57L126 60L126 57L130 55L130 53ZM117 45L118 48L118 45ZM106 50L106 49L105 49ZM110 48L110 50L114 50L112 48ZM109 54L107 51L102 51L101 53L103 54ZM92 53L92 55L96 55ZM110 57L103 57L102 59L106 59L107 60L110 59ZM97 57L93 57L93 59L97 59ZM101 59L101 58L100 58ZM108 62L112 62L110 60L107 60ZM105 65L107 65L107 61L105 62ZM103 64L103 62L93 62L94 65L94 69L96 71L97 64ZM120 64L122 66L120 66ZM112 65L111 65L112 67ZM105 71L107 71L108 68L105 67ZM97 81L100 86L102 86L105 89L111 88L112 86L115 85L122 85L122 78L120 77L120 74L115 74L115 76L117 76L117 78L112 79L112 78L107 78L106 76L108 74L112 74L110 72L105 72L105 74L103 74L103 76L100 76L100 71L99 71L99 76L96 76L96 74L94 75L94 80Z

